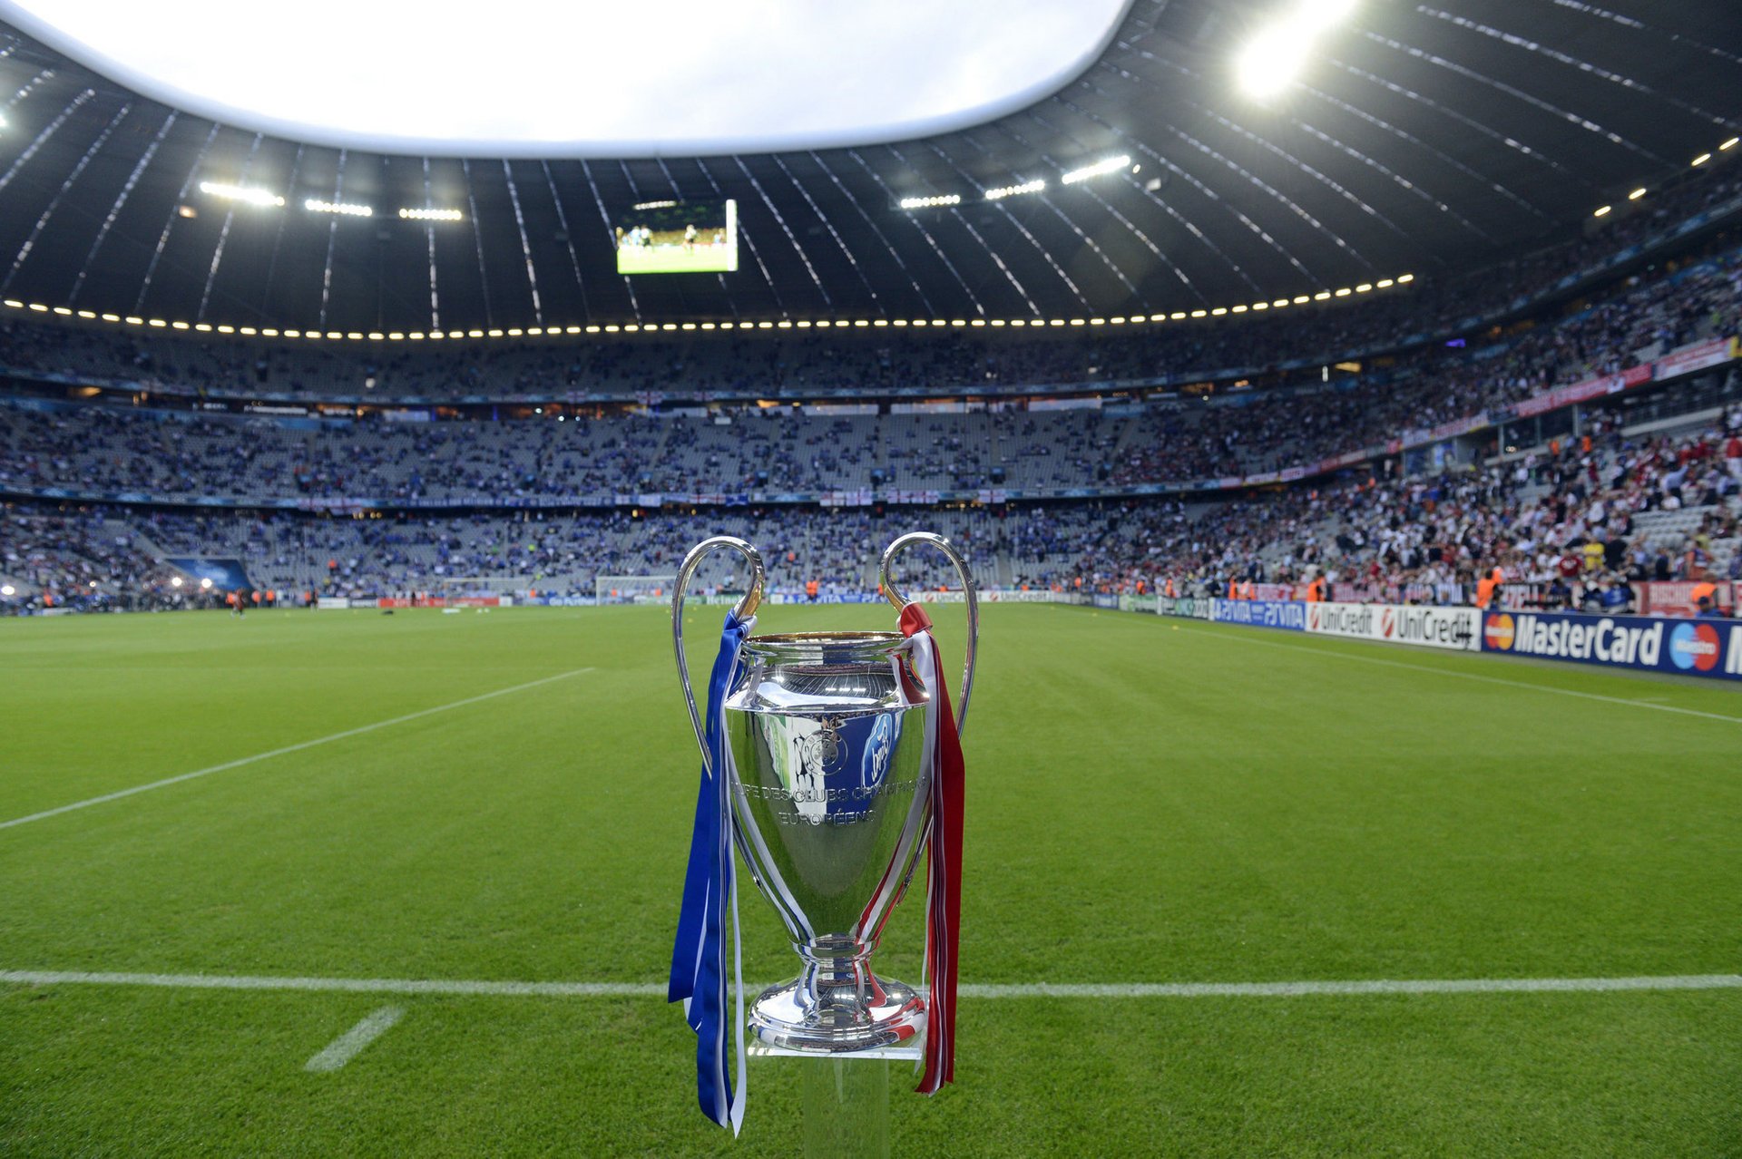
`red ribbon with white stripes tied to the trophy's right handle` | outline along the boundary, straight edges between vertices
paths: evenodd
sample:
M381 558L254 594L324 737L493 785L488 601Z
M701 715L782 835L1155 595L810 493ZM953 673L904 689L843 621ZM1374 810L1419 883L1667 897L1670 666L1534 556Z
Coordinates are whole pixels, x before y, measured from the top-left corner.
M932 618L918 604L901 609L901 633L930 632ZM925 973L932 994L925 1020L925 1074L918 1091L935 1095L956 1081L956 947L962 933L962 802L965 771L956 717L949 708L944 661L932 640L932 672L920 673L937 698L937 750L932 754L932 830L927 839Z

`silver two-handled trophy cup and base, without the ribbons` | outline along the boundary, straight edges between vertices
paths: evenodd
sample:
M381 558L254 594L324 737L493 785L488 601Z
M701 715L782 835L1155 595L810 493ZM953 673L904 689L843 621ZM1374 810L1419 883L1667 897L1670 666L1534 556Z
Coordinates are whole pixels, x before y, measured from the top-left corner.
M962 576L969 646L956 727L974 689L979 604L967 562L942 536L911 533L883 552L890 604L908 600L890 564L930 543ZM672 639L690 720L702 717L683 656L683 597L702 557L728 546L751 566L739 616L754 613L765 571L754 546L733 536L699 543L678 569ZM913 877L932 820L925 694L899 632L753 635L726 698L728 794L739 854L786 922L798 978L770 987L751 1008L753 1035L780 1051L848 1055L916 1046L925 994L871 971L878 935Z

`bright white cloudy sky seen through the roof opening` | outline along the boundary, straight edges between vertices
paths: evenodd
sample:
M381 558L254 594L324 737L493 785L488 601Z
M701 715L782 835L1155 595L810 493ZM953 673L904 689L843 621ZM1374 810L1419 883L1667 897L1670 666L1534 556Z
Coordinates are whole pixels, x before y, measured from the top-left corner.
M488 21L354 0L7 0L0 14L169 106L293 141L469 157L695 157L963 129L1050 96L1131 0L496 0ZM199 35L188 35L199 28ZM256 50L270 44L272 52ZM321 66L310 68L310 61ZM455 84L463 77L465 84ZM807 99L794 101L796 92Z

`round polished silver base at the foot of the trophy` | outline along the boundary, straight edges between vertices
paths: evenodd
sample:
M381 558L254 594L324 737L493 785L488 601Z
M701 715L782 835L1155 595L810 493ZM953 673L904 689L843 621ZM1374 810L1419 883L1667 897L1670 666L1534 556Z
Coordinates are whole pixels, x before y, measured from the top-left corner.
M768 1053L904 1058L925 1034L925 994L902 981L866 976L859 987L812 988L805 978L761 992L751 1034Z

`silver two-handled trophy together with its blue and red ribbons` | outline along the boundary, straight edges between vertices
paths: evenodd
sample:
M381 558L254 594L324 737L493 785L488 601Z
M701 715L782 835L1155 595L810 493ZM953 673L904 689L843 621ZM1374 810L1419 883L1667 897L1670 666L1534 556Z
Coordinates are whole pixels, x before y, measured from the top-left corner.
M895 555L918 543L942 552L962 576L969 644L955 713L930 618L890 574ZM744 555L751 576L726 614L704 717L683 654L683 600L702 557L723 546ZM714 536L678 571L672 642L702 776L669 997L685 1002L697 1032L699 1098L721 1126L742 1121L746 1032L768 1053L922 1058L925 1093L953 1079L960 729L974 689L979 604L967 562L930 533L890 543L880 580L901 614L897 632L751 635L765 588L753 545ZM728 1011L728 973L737 975L740 957L733 847L786 924L800 969L749 1009L739 981ZM922 853L925 978L908 985L878 976L871 954Z

